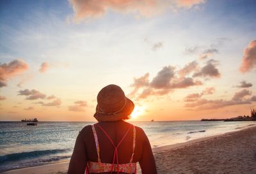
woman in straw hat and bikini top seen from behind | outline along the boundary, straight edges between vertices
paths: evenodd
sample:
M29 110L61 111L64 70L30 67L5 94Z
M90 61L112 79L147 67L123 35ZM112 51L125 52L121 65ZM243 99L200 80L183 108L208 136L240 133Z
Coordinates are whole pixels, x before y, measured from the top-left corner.
M124 120L134 109L117 85L104 87L97 96L97 124L85 126L77 136L68 174L136 173L139 162L144 174L156 174L156 163L147 135Z

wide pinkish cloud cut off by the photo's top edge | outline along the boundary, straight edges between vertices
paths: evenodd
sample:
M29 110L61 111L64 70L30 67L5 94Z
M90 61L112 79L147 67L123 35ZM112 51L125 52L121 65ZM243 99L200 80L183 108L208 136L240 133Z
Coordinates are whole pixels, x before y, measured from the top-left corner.
M108 10L121 13L132 13L141 17L150 17L161 13L166 9L179 10L193 8L198 4L205 3L204 0L69 0L74 10L74 22L81 22L88 18L102 17Z

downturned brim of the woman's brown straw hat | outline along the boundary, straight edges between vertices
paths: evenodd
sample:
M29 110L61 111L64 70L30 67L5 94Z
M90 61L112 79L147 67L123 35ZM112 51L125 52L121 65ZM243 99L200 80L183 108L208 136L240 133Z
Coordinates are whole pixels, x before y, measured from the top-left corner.
M95 119L97 119L99 122L116 122L127 119L127 116L129 116L133 110L134 103L131 101L131 99L126 98L125 106L122 110L120 110L120 112L115 114L102 113L99 112L99 106L97 105L96 112L94 113L93 117L95 117Z

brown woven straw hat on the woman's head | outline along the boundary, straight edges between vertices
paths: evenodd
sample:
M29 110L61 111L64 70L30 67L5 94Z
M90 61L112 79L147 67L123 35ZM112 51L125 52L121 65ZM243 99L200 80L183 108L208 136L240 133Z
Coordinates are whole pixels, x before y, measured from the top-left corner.
M124 91L118 85L102 88L97 96L97 103L94 117L99 122L127 119L134 109L134 103L125 97Z

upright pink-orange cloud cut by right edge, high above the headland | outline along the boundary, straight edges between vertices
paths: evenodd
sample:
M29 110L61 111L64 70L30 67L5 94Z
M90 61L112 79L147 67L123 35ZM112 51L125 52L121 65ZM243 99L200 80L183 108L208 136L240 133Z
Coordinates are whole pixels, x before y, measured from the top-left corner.
M244 49L244 55L240 71L245 73L256 68L256 40L249 43L248 47Z

